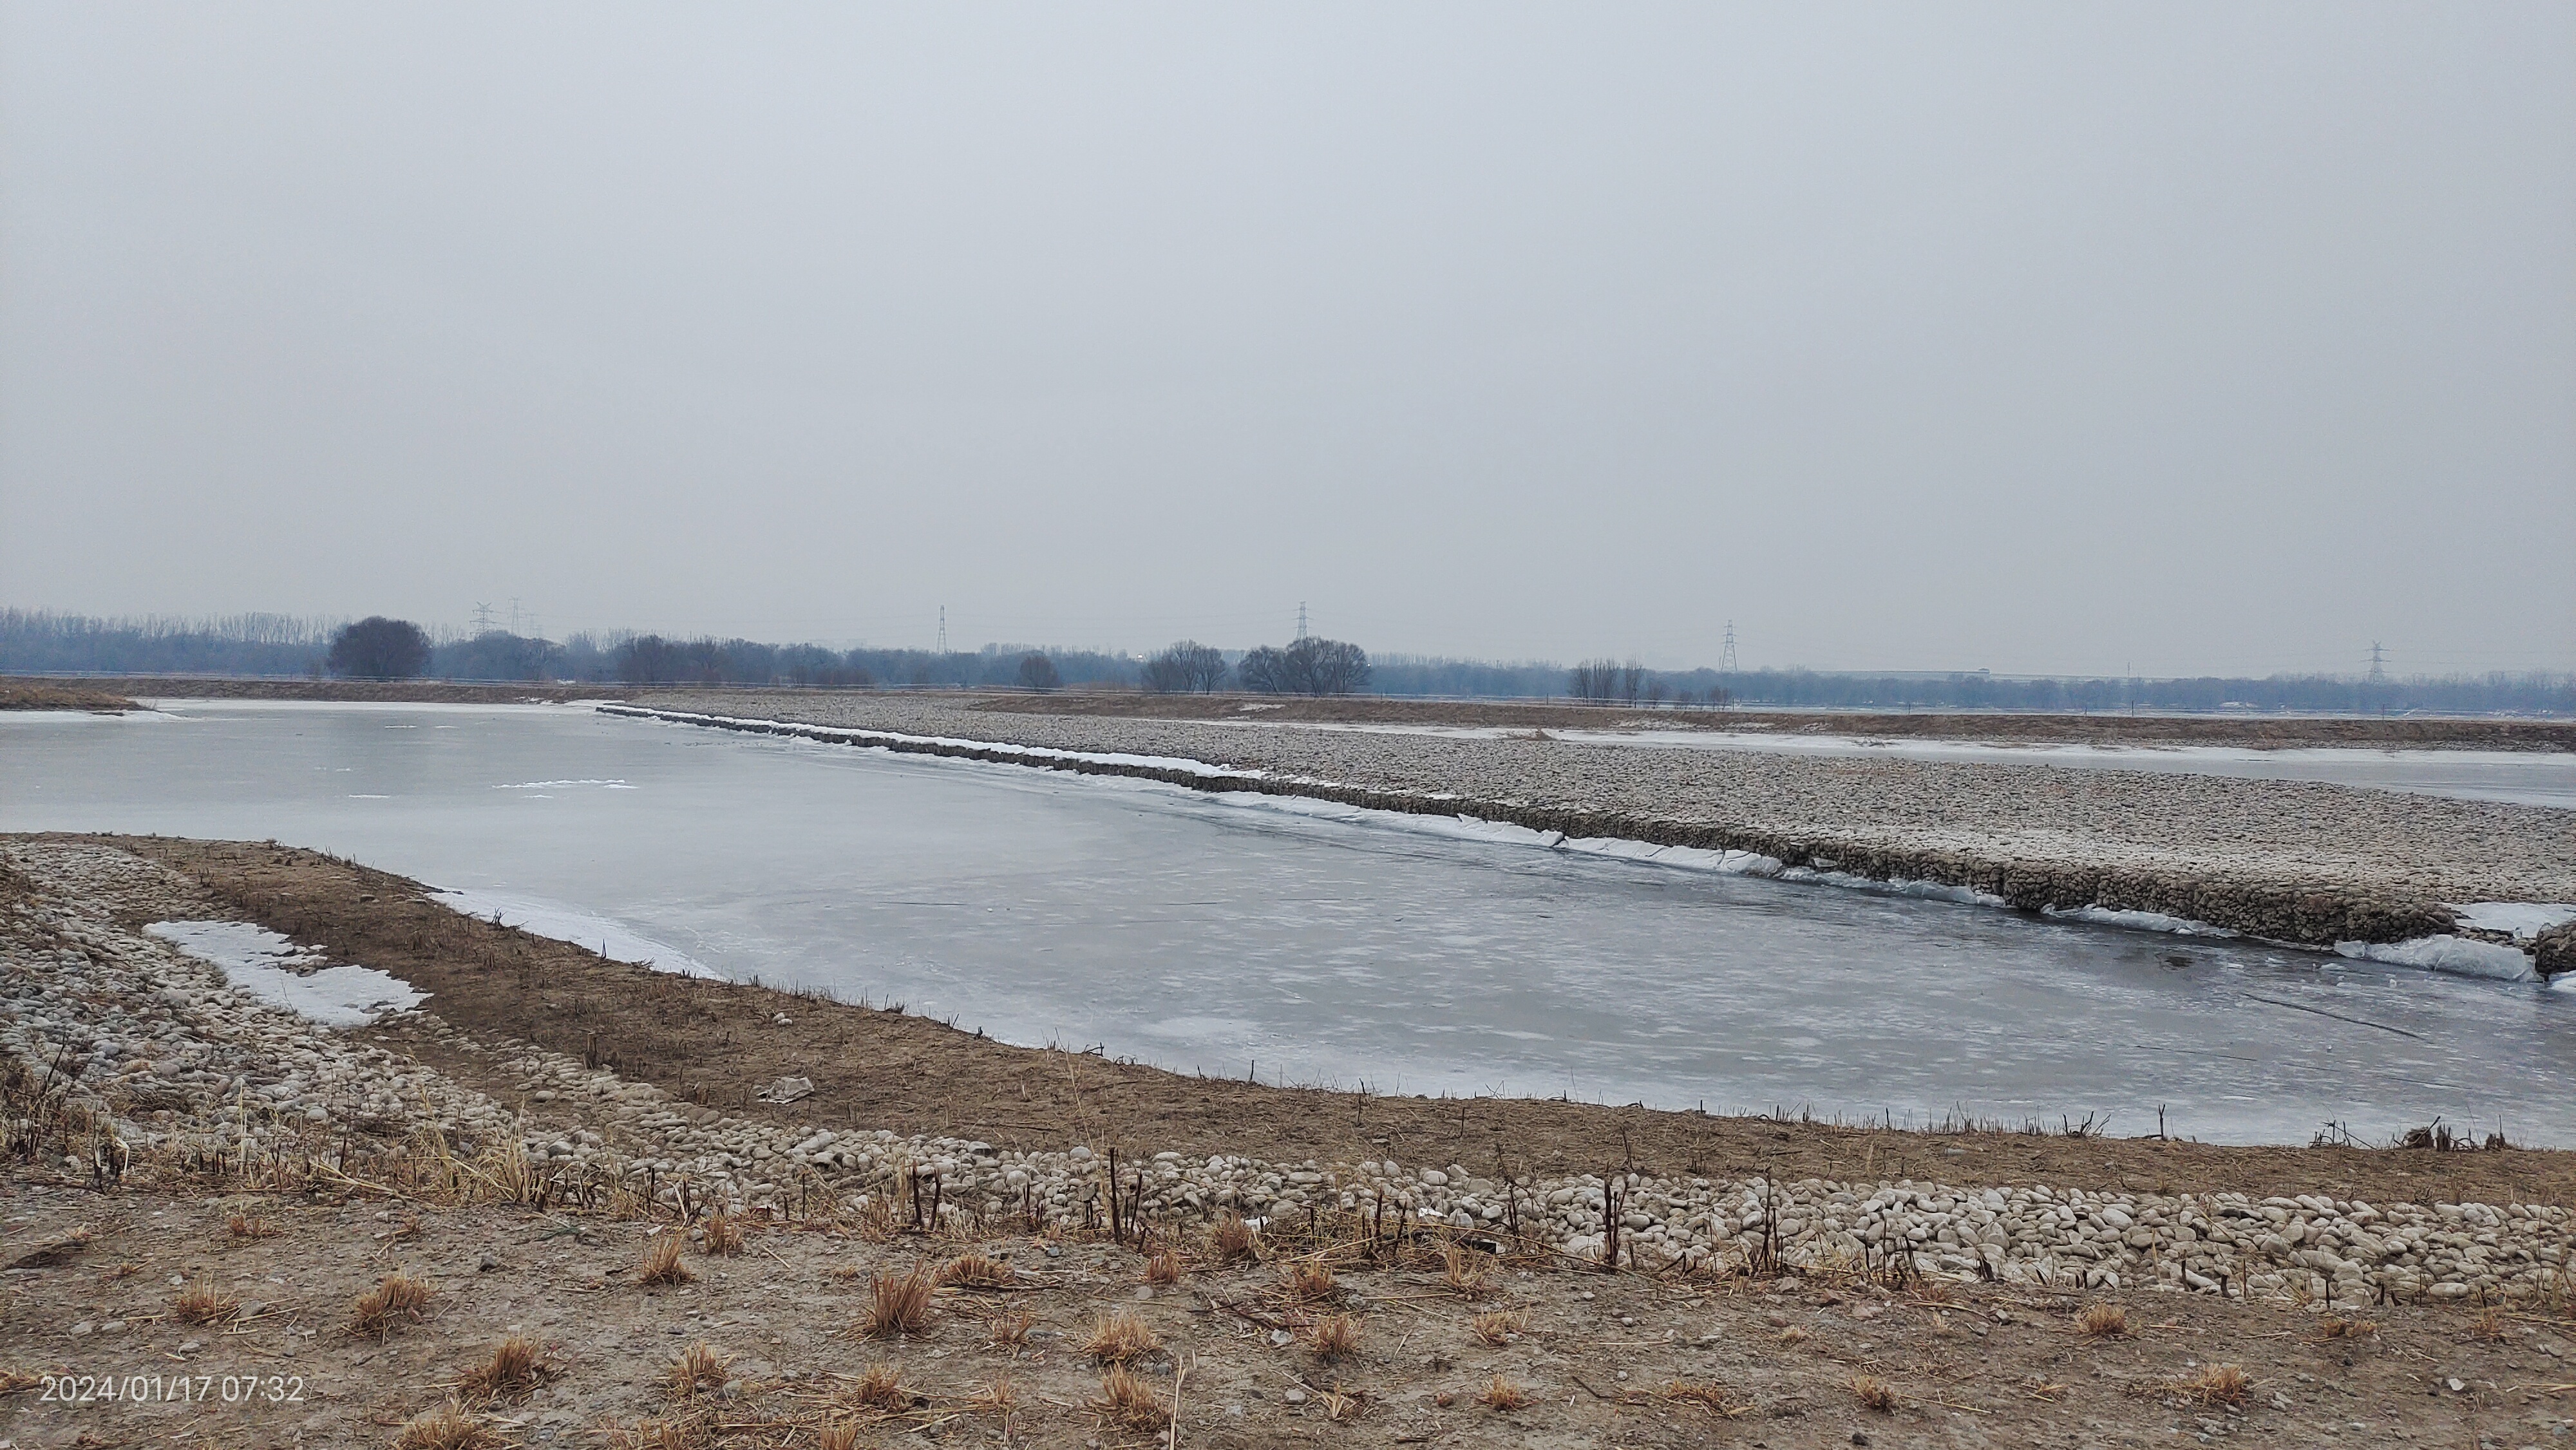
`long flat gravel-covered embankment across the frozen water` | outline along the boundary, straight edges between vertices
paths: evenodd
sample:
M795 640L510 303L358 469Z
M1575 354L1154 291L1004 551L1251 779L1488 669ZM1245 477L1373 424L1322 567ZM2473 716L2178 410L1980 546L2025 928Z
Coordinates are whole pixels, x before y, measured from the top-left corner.
M1252 731L971 713L917 698L752 695L703 706L603 708L1198 791L1471 814L1569 840L1747 852L1788 871L1932 883L2027 912L2138 912L2313 948L2470 935L2452 901L2576 899L2576 832L2566 829L2566 811L2391 791L2045 765Z

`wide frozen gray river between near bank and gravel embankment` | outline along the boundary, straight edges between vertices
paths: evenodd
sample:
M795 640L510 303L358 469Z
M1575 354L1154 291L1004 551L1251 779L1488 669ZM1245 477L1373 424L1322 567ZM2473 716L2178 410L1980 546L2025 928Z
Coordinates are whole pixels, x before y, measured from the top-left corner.
M1265 1082L2576 1144L2571 992L564 706L0 713L0 829L276 837L616 956Z

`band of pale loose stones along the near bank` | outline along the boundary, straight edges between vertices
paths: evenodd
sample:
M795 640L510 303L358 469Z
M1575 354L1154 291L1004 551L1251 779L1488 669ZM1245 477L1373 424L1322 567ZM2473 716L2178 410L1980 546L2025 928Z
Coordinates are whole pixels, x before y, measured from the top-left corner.
M2084 1192L1935 1182L1770 1182L1569 1174L1499 1182L1463 1164L1257 1162L1090 1146L997 1151L891 1131L747 1123L510 1043L471 1043L407 1012L420 1035L513 1074L515 1105L317 1028L229 986L219 968L126 930L206 904L160 865L108 847L0 850L33 891L0 904L0 1053L13 1113L52 1100L95 1115L67 1172L134 1162L319 1156L353 1174L407 1154L518 1156L564 1182L621 1182L665 1203L858 1203L938 1185L938 1210L1097 1223L1121 1192L1144 1221L1363 1213L1386 1223L1515 1234L1649 1270L1783 1265L2058 1288L2164 1288L2251 1298L2555 1298L2576 1247L2563 1208L2360 1203L2293 1195ZM26 1123L10 1123L23 1133ZM435 1136L430 1133L435 1131ZM435 1146L433 1146L435 1144Z

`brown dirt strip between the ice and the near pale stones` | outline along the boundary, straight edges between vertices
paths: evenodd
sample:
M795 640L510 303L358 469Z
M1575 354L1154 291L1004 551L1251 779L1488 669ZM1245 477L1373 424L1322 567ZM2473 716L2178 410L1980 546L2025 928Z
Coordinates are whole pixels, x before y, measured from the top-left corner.
M1917 1133L1522 1097L1383 1097L1005 1046L971 1025L884 1004L799 999L781 1025L781 997L762 986L603 961L459 917L422 901L412 881L327 855L258 842L72 840L106 840L160 860L245 922L433 992L451 1028L595 1059L739 1118L945 1133L1002 1149L1121 1144L1144 1154L1507 1164L1522 1177L1633 1167L1710 1177L1924 1177L1963 1187L2187 1185L2406 1203L2576 1203L2576 1154L2548 1149L2246 1149L2063 1131ZM399 1025L371 1033L495 1100L515 1097L518 1077L502 1066L448 1053ZM814 1097L791 1107L752 1100L778 1077L811 1077Z

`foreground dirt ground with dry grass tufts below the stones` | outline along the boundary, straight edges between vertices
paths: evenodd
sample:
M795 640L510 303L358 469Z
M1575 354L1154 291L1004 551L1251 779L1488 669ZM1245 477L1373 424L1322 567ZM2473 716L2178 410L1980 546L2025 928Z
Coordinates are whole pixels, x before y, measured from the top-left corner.
M649 1236L677 1226L368 1195L95 1195L23 1174L0 1210L13 1445L466 1445L407 1429L464 1396L484 1445L811 1447L840 1424L848 1445L1208 1450L2514 1447L2563 1445L2576 1391L2566 1321L2458 1308L2334 1319L2208 1295L1656 1280L1481 1252L1453 1288L1427 1249L1358 1241L1267 1244L1267 1262L1234 1267L1206 1241L1170 1244L1177 1272L1151 1283L1146 1254L1097 1236L819 1221L755 1221L734 1254L688 1241L693 1283L641 1285ZM917 1332L858 1334L881 1275L966 1252L1007 1283L940 1288ZM1291 1262L1329 1267L1329 1293L1291 1298ZM394 1272L430 1290L420 1319L358 1329L353 1301ZM216 1319L183 1319L196 1290ZM2092 1306L2125 1329L2087 1334ZM1324 1355L1334 1313L1355 1339ZM1105 1406L1087 1352L1108 1316L1157 1342L1131 1360L1133 1417ZM1497 1319L1479 1332L1479 1316ZM513 1334L538 1347L536 1373L474 1393L469 1373ZM701 1344L721 1368L683 1393L675 1362ZM891 1386L866 1383L878 1368ZM193 1401L173 1398L180 1375Z

